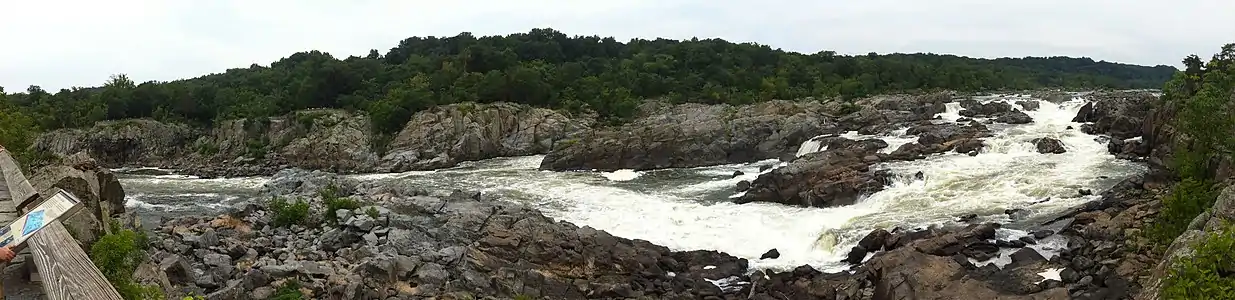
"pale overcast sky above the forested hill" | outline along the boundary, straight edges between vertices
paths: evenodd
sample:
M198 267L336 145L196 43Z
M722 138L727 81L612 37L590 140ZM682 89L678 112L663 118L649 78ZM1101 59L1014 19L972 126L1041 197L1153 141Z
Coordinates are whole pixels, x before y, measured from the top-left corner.
M0 0L0 86L173 80L410 36L720 37L814 53L1084 56L1135 64L1235 42L1230 0Z

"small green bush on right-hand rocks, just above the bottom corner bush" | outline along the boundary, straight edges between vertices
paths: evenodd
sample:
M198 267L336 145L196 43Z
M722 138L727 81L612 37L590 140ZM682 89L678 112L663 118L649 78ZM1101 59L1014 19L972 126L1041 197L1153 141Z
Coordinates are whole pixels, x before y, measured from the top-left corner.
M1213 184L1193 178L1184 178L1171 190L1171 194L1162 199L1162 211L1150 227L1150 240L1160 246L1168 246L1184 230L1192 219L1205 212L1214 205L1218 193L1213 190Z

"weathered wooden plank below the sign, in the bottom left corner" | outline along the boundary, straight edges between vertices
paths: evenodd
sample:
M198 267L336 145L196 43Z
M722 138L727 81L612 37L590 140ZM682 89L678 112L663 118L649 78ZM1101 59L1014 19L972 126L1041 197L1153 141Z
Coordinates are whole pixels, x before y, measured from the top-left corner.
M52 300L121 300L61 221L52 221L26 243L38 267L43 293Z

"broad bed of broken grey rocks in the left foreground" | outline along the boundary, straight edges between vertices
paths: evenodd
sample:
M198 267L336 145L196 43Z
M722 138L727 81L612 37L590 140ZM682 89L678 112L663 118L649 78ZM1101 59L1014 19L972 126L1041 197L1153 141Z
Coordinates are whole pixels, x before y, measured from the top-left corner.
M147 279L207 299L267 299L290 279L309 299L724 299L746 285L745 259L671 252L474 193L405 195L280 174L314 175L277 178L274 193L311 194L330 181L395 210L341 210L321 227L273 226L273 212L256 205L179 217L154 232L149 257L161 272ZM320 199L310 202L320 211Z

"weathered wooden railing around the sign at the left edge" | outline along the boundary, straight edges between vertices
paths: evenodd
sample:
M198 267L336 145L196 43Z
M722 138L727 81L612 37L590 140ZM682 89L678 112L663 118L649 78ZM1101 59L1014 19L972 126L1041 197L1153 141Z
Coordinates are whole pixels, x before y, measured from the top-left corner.
M25 210L28 210L22 207L36 207L41 202L41 196L52 196L40 195L35 190L35 186L22 174L21 167L2 146L0 146L0 173L4 174L0 178L2 180L0 185L4 185L0 186L0 191L7 191L0 193L0 214L16 214L15 217L20 217ZM7 199L2 199L5 194L7 194ZM69 235L61 221L48 222L46 227L26 241L26 247L35 260L38 279L42 281L43 294L47 299L121 300L116 288L111 286L111 283L103 277L99 268L82 249L80 243Z

